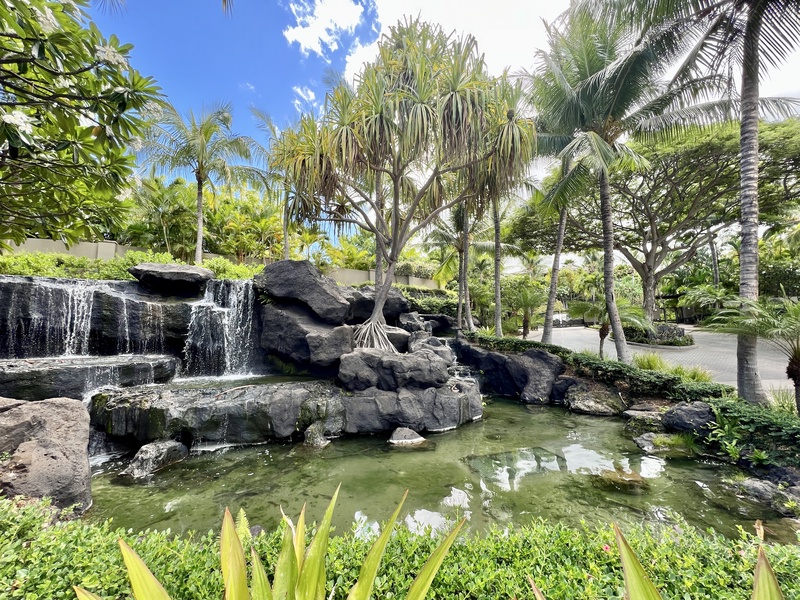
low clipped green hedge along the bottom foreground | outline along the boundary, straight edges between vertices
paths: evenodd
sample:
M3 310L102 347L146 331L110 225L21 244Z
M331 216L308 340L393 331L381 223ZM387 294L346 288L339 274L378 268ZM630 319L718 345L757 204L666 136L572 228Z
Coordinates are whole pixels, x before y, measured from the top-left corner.
M745 534L727 540L685 523L678 525L625 528L664 598L749 598L756 540ZM5 499L0 499L0 596L74 599L71 586L79 585L103 598L127 598L130 590L116 541L120 536L175 600L222 597L218 541L211 532L181 538L169 532L114 530L108 522L50 524L47 510L39 504L17 506ZM275 533L254 541L268 569L277 557L278 542ZM415 535L399 527L381 563L373 598L404 597L438 542L436 536ZM346 597L370 543L353 533L331 539L327 589L330 592L335 585L334 598ZM767 554L786 598L798 597L798 548L772 545ZM528 576L548 600L622 597L622 570L610 527L573 529L534 521L485 536L462 535L445 557L428 598L530 598Z

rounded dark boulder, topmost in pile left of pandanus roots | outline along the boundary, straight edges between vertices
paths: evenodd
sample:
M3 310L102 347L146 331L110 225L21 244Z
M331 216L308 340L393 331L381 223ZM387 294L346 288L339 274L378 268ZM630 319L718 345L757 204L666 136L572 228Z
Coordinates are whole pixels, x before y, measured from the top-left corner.
M255 286L275 299L300 303L325 323L342 325L350 314L350 303L330 277L307 260L281 260L264 267Z

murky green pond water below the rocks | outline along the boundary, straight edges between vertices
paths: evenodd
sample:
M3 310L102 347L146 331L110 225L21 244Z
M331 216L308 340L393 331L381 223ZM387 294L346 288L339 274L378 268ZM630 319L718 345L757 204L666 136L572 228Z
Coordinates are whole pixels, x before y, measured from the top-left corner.
M117 477L124 464L112 461L95 467L88 518L112 517L136 530L206 531L219 527L227 506L272 530L281 507L294 517L306 503L309 519L321 518L341 482L339 532L354 522L375 527L408 489L403 519L419 531L462 516L481 532L538 518L601 525L670 522L678 514L727 536L762 519L772 539L797 542L776 513L724 484L741 476L736 469L644 455L622 427L616 419L494 400L482 421L428 435L417 449L391 447L381 436L337 439L321 450L281 443L218 449L144 483Z

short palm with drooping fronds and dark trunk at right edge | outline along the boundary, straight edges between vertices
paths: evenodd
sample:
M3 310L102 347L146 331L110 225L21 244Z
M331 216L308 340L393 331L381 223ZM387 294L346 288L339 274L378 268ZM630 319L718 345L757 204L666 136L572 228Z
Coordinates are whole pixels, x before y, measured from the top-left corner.
M788 359L786 376L794 383L794 401L800 415L800 302L786 295L778 301L739 298L736 306L720 310L707 327L716 331L762 338Z

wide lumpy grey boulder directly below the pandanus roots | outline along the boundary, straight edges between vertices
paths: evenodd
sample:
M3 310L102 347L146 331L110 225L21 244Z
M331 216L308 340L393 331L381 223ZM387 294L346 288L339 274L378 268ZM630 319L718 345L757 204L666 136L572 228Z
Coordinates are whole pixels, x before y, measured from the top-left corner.
M357 348L342 356L339 381L350 391L377 387L396 391L402 387L441 387L450 375L448 364L432 350L395 354L374 348Z

